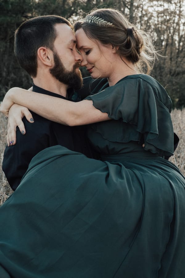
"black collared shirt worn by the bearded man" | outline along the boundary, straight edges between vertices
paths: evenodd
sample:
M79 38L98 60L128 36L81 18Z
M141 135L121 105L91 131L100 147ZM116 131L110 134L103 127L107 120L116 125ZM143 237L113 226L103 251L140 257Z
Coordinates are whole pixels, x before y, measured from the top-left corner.
M33 85L33 91L66 99L35 85ZM68 90L68 95L70 97L68 100L80 100L78 94L74 94L73 90ZM13 190L18 187L31 159L47 147L62 145L70 150L83 153L89 158L97 158L88 143L86 126L70 127L47 120L32 111L31 114L34 123L29 123L24 117L23 123L26 134L23 135L17 127L16 144L10 147L6 146L4 152L2 170Z

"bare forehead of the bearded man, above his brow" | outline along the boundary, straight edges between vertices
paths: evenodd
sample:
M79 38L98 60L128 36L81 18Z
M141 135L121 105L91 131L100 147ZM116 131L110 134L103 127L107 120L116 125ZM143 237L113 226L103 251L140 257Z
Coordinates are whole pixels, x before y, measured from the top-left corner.
M66 23L55 24L57 36L54 44L62 44L65 46L76 45L76 38L71 29Z

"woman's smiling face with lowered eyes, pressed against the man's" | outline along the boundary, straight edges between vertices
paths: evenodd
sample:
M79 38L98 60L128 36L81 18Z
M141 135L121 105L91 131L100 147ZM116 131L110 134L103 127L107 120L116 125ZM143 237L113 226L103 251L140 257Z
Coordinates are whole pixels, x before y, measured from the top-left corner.
M114 51L111 45L89 39L82 28L76 31L76 47L81 53L81 66L85 66L92 78L106 78L113 73Z

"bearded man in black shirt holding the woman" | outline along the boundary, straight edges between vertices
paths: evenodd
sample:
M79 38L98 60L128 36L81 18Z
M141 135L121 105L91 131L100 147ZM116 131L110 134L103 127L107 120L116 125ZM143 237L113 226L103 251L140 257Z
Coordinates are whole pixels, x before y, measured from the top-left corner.
M78 101L74 89L82 86L80 53L72 25L63 17L39 16L27 20L15 32L14 53L19 64L33 78L33 91ZM34 94L34 93L33 93ZM15 190L31 159L41 150L63 145L92 158L85 127L61 125L31 112L34 124L23 118L26 133L17 128L17 142L6 147L2 169ZM25 135L23 136L23 134ZM10 142L11 144L11 142Z

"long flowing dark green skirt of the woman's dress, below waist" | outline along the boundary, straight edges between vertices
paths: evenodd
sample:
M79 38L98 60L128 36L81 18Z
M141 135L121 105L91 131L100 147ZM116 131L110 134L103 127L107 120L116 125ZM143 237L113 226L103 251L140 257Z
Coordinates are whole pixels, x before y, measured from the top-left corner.
M185 179L162 158L45 149L0 223L0 265L13 278L185 277Z

